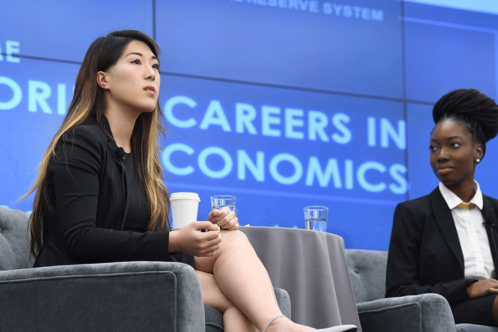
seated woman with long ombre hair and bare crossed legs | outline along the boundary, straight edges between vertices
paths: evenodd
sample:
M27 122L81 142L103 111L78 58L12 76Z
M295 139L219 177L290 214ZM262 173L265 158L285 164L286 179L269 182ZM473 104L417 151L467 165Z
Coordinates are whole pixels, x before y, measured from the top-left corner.
M171 231L158 157L158 56L155 41L135 30L90 45L73 101L30 191L36 190L34 266L185 262L197 271L204 302L223 313L225 331L314 331L282 315L269 276L230 209Z

